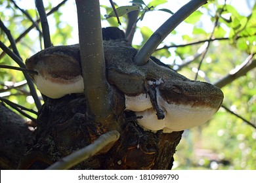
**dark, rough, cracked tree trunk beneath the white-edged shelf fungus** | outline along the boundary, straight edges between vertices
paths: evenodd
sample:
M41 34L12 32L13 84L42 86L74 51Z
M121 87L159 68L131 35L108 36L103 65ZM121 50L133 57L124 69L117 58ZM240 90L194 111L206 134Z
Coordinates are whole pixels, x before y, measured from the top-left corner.
M37 119L35 143L25 162L44 169L75 150L83 148L108 131L100 122L89 120L85 114L83 95L66 95L49 99ZM136 122L134 112L119 116L119 141L108 151L79 163L72 169L171 169L173 154L182 131L152 133L144 131ZM40 152L40 153L39 153ZM32 158L32 159L30 159ZM22 165L22 168L30 168Z

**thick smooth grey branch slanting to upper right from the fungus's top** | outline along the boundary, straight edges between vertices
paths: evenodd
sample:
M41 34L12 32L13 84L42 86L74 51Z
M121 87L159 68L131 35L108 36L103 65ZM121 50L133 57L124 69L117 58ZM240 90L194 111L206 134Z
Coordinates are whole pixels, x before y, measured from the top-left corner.
M139 52L135 55L134 62L137 65L144 65L152 53L156 50L158 45L169 35L177 25L187 18L192 12L207 3L206 0L191 0L186 5L181 7L171 18L169 18L163 25L161 25L153 35L145 42L140 48Z

